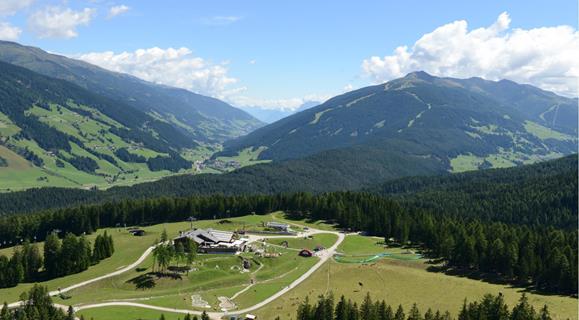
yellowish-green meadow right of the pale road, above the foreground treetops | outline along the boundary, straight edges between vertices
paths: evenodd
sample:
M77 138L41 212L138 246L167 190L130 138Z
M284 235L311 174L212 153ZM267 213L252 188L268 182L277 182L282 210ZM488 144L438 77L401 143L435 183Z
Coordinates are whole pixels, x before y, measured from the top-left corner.
M383 249L377 246L378 238L347 236L339 249L348 254L400 253L402 249ZM424 312L429 307L449 310L454 316L465 298L476 300L486 293L505 296L514 304L522 289L490 284L462 277L427 271L426 260L402 261L385 257L370 264L324 264L297 288L255 313L262 319L295 319L300 301L306 296L316 300L321 294L332 292L336 298L345 295L360 303L366 293L372 298L385 299L391 305L402 304L409 309L416 302ZM547 304L554 319L577 319L577 298L528 293L529 301L540 308Z

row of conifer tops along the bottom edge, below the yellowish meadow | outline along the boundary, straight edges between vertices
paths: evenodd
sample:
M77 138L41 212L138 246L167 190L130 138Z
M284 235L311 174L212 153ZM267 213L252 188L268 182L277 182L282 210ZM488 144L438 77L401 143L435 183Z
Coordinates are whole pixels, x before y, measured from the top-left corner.
M279 319L279 317L277 318ZM529 304L523 294L512 309L509 309L502 295L487 294L479 301L467 303L466 299L458 318L448 311L433 311L429 308L422 313L416 303L410 310L402 305L393 307L384 300L373 301L367 294L360 305L341 296L337 303L333 295L321 295L316 303L310 303L309 297L302 301L296 312L297 320L550 320L549 309L545 305L539 312Z

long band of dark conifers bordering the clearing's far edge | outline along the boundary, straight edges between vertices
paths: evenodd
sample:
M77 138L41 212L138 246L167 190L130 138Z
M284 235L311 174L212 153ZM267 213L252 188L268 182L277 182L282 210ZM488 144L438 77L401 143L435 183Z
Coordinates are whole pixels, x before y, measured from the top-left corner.
M125 200L0 218L0 242L26 239L54 228L90 233L117 224L142 225L285 211L296 218L328 220L401 243L421 245L447 267L485 272L549 292L577 292L577 230L506 224L401 206L372 193L292 193Z

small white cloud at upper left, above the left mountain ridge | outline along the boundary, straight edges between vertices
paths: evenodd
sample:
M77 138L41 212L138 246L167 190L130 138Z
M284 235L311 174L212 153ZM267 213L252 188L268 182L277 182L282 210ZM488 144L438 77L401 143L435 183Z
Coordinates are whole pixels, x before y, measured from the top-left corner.
M90 23L95 9L74 11L70 8L47 7L28 17L28 26L39 38L74 38L76 28Z

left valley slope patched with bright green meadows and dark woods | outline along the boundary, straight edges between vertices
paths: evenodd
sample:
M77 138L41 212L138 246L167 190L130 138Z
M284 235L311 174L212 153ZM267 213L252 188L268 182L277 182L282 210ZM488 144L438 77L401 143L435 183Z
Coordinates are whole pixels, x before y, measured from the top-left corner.
M123 103L10 64L0 70L0 191L130 185L193 172L210 152Z

